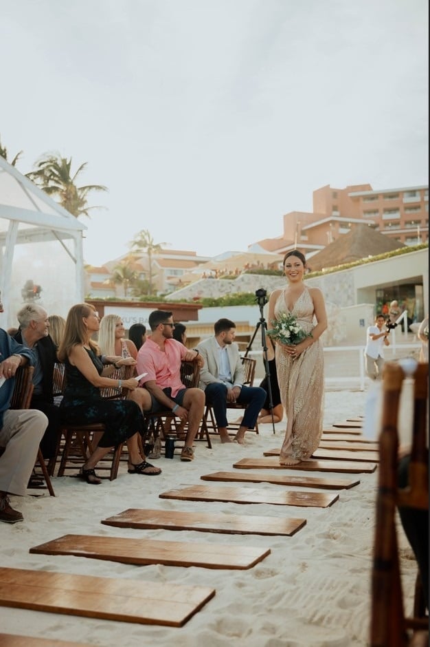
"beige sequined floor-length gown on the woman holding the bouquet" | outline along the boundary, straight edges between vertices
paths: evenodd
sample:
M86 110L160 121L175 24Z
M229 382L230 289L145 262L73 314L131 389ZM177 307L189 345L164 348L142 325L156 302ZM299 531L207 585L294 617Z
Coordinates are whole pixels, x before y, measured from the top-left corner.
M284 290L275 303L275 317L288 313ZM308 288L295 302L291 314L306 331L314 328L313 301ZM280 462L286 456L306 460L319 445L324 416L324 352L320 339L297 359L276 344L276 371L287 423Z

